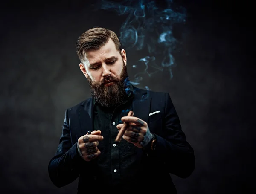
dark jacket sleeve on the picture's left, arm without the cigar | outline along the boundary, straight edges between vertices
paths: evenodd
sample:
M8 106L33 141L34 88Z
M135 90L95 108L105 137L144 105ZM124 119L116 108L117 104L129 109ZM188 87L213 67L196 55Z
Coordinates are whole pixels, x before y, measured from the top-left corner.
M71 144L68 110L66 110L59 145L48 165L49 177L53 184L63 187L76 180L82 161L77 150L77 143L73 146Z

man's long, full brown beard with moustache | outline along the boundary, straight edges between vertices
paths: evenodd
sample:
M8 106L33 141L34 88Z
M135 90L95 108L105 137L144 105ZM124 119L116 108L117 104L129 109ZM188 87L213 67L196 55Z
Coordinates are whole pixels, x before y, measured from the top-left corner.
M105 81L113 81L110 86L105 86ZM93 83L90 77L88 77L89 86L91 89L91 95L102 107L116 107L121 104L128 96L129 77L127 68L123 62L122 72L120 78L106 77L99 83Z

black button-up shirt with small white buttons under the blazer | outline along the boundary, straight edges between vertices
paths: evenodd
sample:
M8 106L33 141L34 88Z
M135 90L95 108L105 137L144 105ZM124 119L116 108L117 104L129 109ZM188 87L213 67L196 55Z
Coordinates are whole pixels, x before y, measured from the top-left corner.
M99 142L98 149L101 154L96 159L96 180L105 186L124 185L129 178L134 177L136 171L137 148L132 143L122 139L119 144L114 140L118 134L116 125L123 123L121 118L127 116L132 110L132 100L134 97L133 87L130 84L130 93L125 101L119 106L111 109L94 103L93 120L94 130L100 130L104 137Z

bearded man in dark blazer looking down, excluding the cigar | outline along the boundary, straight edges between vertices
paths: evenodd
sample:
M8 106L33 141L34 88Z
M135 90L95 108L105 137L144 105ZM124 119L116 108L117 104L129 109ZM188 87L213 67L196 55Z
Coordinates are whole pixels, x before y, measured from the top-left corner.
M76 49L92 97L65 112L48 167L54 185L63 187L79 177L78 194L177 193L170 173L189 177L195 156L169 94L130 83L126 53L113 31L89 29L78 38ZM127 116L130 110L134 116ZM124 122L127 129L115 142Z

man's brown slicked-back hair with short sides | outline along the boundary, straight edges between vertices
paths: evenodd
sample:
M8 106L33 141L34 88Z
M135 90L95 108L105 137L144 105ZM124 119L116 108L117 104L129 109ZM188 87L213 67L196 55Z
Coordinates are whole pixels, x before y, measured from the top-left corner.
M80 61L84 63L87 51L99 50L108 43L110 38L115 43L116 50L121 53L121 44L115 32L100 27L94 27L83 32L76 41L76 52Z

